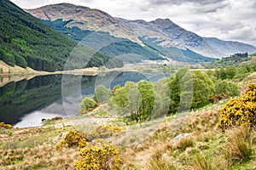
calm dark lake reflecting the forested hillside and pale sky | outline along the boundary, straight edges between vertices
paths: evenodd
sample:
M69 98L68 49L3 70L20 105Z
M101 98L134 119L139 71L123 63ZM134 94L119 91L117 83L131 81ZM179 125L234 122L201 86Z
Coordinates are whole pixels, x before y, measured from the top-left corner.
M162 74L111 72L99 76L50 75L9 82L0 88L0 122L15 127L41 125L43 118L75 116L81 99L92 96L98 85L108 88L125 82L156 82ZM64 80L64 81L63 81Z

